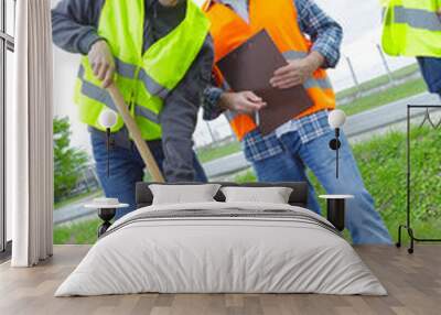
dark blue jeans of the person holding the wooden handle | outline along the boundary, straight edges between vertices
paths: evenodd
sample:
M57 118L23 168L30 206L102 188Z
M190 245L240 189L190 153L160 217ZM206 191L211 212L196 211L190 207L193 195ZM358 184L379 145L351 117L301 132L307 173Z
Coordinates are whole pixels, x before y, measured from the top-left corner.
M106 197L118 198L120 203L130 205L128 208L117 210L116 218L118 219L136 209L135 186L136 183L142 182L143 180L144 163L132 142L130 145L131 148L111 145L109 150L110 176L107 177L106 140L95 133L90 133L90 139L96 171ZM164 154L161 141L148 141L147 143L158 163L158 166L162 171ZM194 155L194 169L196 173L195 181L207 182L205 172L196 155Z

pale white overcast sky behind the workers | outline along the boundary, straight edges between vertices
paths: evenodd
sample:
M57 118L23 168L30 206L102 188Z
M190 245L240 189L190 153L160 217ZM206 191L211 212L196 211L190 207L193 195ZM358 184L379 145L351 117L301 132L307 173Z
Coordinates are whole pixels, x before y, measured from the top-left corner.
M195 0L201 3L203 1ZM270 1L270 0L262 0ZM384 74L381 59L376 47L380 36L380 7L378 0L315 0L329 15L337 20L344 29L343 56L348 56L357 73L358 80L364 82ZM58 2L52 0L52 3ZM352 86L353 80L347 62L342 58L336 69L330 70L330 76L336 90ZM77 110L72 101L73 87L79 57L55 47L55 115L69 116L73 129L72 142L89 151L86 127L79 123ZM413 62L405 58L387 58L392 69ZM229 132L225 119L213 122L212 129L219 137ZM197 143L209 140L207 128L198 123L195 132Z

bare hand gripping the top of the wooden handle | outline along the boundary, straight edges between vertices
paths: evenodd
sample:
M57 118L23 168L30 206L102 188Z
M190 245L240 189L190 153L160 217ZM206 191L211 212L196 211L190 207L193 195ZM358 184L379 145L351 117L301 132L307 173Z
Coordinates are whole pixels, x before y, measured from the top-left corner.
M114 80L115 58L107 42L101 40L92 45L88 58L92 70L103 82L103 87L109 87Z

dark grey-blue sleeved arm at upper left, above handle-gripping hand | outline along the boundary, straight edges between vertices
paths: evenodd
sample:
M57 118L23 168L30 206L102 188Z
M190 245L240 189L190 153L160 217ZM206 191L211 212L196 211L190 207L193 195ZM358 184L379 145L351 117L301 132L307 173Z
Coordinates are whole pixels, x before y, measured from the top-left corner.
M105 0L62 0L52 10L52 34L55 45L71 53L87 55L103 40L97 34Z

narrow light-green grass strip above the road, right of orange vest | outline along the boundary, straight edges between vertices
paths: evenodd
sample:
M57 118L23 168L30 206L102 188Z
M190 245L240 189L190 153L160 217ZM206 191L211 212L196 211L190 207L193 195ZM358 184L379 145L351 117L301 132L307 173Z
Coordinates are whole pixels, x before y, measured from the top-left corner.
M347 116L359 113L389 102L404 99L427 90L427 86L422 79L415 79L390 87L384 91L358 98L347 105L341 106Z

